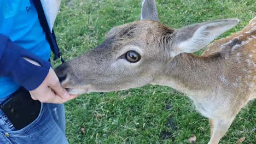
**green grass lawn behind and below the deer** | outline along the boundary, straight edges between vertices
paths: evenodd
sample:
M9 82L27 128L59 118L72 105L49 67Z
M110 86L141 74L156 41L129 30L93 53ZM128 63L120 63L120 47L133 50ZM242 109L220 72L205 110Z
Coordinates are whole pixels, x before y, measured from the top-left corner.
M241 30L256 15L256 3L252 0L156 2L160 21L173 28L214 19L241 20L221 37ZM68 60L82 55L100 44L110 28L139 20L140 3L62 0L55 32L63 57ZM54 62L55 67L59 64ZM244 136L243 143L256 142L255 105L256 101L242 109L220 143L236 143ZM168 87L148 85L84 94L65 107L69 143L187 143L190 135L196 135L197 143L210 140L208 119L195 111L187 97Z

